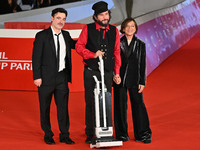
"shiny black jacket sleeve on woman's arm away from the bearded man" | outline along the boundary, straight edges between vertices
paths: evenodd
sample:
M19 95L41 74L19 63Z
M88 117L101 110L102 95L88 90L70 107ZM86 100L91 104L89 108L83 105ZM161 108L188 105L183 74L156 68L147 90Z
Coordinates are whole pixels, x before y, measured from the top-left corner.
M146 86L146 46L144 42L140 44L141 60L140 60L140 80L139 84Z

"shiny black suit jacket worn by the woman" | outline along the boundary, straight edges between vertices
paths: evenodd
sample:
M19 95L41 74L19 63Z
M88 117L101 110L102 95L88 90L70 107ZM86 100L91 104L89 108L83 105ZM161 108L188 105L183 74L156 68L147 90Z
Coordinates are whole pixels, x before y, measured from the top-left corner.
M139 84L146 85L146 48L145 43L133 37L128 46L126 36L121 38L121 60L120 76L121 86L127 88L138 87ZM126 51L128 49L128 52Z

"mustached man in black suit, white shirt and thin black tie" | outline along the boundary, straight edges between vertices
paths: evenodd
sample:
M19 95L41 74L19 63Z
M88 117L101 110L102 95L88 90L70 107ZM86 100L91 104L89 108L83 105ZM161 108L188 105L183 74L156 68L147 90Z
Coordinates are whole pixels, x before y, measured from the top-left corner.
M51 26L36 34L33 54L33 79L38 87L41 127L46 144L55 144L50 124L50 104L54 95L60 129L60 142L74 144L69 137L68 82L71 82L71 48L75 41L62 30L67 11L56 8Z

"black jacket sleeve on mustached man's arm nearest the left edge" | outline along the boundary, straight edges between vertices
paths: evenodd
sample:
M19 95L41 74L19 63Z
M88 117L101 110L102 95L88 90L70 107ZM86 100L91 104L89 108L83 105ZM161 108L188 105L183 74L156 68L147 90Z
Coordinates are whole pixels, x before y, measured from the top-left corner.
M42 49L43 49L43 39L40 33L35 36L35 41L33 43L33 53L32 53L32 67L33 67L33 79L42 78L41 63L42 63Z

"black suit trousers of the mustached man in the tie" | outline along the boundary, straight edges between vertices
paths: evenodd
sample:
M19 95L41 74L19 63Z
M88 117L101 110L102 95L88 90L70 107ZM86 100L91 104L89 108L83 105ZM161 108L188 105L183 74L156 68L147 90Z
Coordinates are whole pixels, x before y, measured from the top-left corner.
M46 137L52 137L50 123L50 105L54 95L57 106L57 118L60 129L60 137L69 136L68 97L69 88L64 71L57 73L55 85L42 85L38 88L40 102L40 121Z

